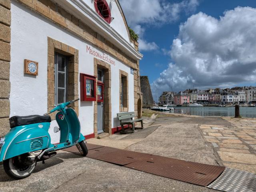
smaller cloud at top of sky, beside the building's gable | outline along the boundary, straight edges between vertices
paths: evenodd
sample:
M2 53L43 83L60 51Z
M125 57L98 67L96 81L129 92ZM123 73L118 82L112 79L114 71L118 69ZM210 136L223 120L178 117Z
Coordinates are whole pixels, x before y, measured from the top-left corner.
M156 50L155 42L143 38L145 25L161 25L177 21L182 12L189 13L196 9L198 0L182 0L170 3L166 0L120 0L128 25L140 36L141 51Z

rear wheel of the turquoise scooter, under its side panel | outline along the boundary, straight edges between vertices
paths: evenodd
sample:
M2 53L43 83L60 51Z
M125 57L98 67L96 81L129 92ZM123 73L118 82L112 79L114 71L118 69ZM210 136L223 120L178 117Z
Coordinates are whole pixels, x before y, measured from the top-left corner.
M14 179L23 179L30 176L36 167L36 162L31 165L22 165L18 163L17 159L18 156L4 160L3 166L6 174Z

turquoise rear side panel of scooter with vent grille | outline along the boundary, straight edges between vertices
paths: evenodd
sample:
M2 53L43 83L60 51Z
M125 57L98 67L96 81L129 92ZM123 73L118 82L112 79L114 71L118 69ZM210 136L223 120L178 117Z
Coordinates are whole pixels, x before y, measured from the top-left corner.
M49 122L29 124L12 128L4 139L0 162L27 152L48 148L51 143L48 134Z

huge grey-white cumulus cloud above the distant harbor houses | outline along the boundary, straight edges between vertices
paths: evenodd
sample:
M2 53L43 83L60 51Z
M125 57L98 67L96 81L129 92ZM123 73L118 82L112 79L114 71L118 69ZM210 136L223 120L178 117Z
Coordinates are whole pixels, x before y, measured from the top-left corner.
M180 25L172 63L152 83L162 92L256 82L256 9L237 7L219 19L202 12Z

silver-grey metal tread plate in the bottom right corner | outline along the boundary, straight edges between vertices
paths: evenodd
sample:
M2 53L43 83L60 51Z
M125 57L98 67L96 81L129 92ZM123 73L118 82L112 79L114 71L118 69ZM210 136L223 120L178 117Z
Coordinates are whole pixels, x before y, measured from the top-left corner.
M225 192L256 192L256 175L226 168L208 188Z

